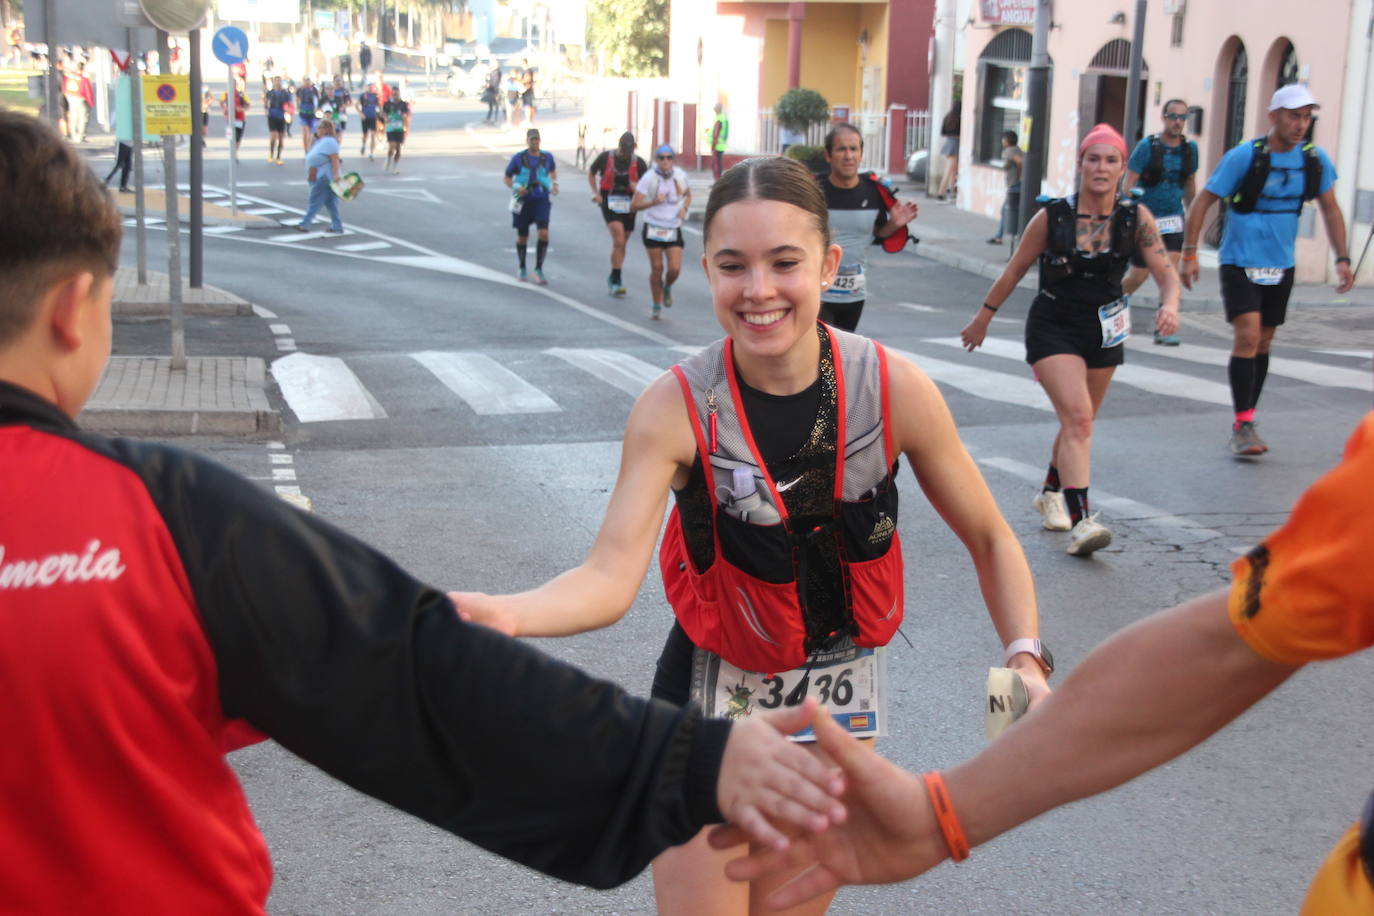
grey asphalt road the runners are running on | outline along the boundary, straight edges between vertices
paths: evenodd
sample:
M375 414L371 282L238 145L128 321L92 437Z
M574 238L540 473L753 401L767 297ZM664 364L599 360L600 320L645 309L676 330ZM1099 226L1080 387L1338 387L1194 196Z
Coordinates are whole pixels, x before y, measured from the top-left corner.
M346 371L331 378L352 376L348 385L364 390L350 389L349 401L364 405L363 419L302 422L282 401L286 453L315 511L438 586L508 591L580 562L616 477L633 380L682 358L680 347L710 342L719 325L697 235L688 235L666 320L649 320L638 242L627 260L631 295L607 297L607 238L585 176L570 169L554 206L551 286L511 280L500 174L518 147L515 135L470 126L475 110L422 104L400 176L383 176L381 162L346 162L361 165L368 181L345 209L349 235L287 240L284 231L251 229L207 238L206 282L273 317L192 320L188 341L192 353L294 360L273 367L283 374L304 365L302 357L335 357ZM298 155L287 166L268 165L254 128L239 173L265 184L243 192L262 209L300 211ZM206 181L223 185L223 172L212 159ZM158 251L161 236L151 239ZM969 356L949 339L982 301L985 280L911 251L875 254L871 269L861 330L914 354L941 383L965 442L1021 533L1043 634L1063 672L1147 612L1224 585L1228 563L1282 522L1370 408L1367 385L1342 387L1351 376L1330 371L1369 379L1360 353L1367 343L1347 343L1356 352L1338 354L1320 352L1342 349L1336 345L1285 346L1281 332L1275 354L1293 364L1287 374L1271 371L1260 413L1272 452L1239 463L1226 450L1230 411L1213 387L1226 382L1224 363L1212 364L1224 358L1223 331L1198 320L1187 328L1191 346L1134 349L1128 364L1143 372L1129 382L1118 375L1095 437L1095 501L1117 537L1091 560L1069 558L1065 537L1040 530L1029 505L1055 431L1052 413L1028 405L1037 393L1018 361L1029 295L1018 291L996 319L1002 347ZM155 349L162 335L162 323L121 321L115 349ZM481 412L489 404L474 407L485 402L464 400L430 368L433 360L426 364L436 353L464 354L466 365L480 354L552 408ZM261 442L185 444L264 483L273 478ZM1000 651L966 552L910 474L900 479L911 645L899 639L890 651L893 728L879 750L926 769L980 747L982 683ZM653 570L624 621L541 647L643 694L669 621ZM900 886L845 890L831 912L1296 912L1318 862L1374 787L1371 676L1369 654L1305 670L1179 761L1047 814L963 865ZM1150 684L1139 691L1147 695ZM474 728L480 720L474 710ZM539 754L539 736L511 753ZM231 759L272 847L273 912L653 911L647 875L610 893L569 887L361 798L275 744Z

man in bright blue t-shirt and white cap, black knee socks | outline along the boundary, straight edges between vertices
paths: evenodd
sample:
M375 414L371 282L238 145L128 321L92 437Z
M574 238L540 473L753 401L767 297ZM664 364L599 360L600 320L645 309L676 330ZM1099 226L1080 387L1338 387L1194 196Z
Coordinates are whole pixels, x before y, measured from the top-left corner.
M1219 279L1226 320L1235 335L1228 375L1235 408L1231 453L1238 457L1270 450L1254 430L1254 405L1268 374L1274 332L1287 312L1297 261L1298 214L1307 201L1318 202L1326 238L1336 250L1341 277L1336 290L1347 293L1355 286L1345 244L1345 218L1333 190L1336 166L1325 151L1307 140L1312 110L1318 107L1304 85L1290 84L1275 92L1270 100L1270 132L1221 158L1189 214L1183 284L1193 288L1200 275L1197 244L1206 211L1217 201L1230 205ZM1267 170L1263 168L1265 159Z

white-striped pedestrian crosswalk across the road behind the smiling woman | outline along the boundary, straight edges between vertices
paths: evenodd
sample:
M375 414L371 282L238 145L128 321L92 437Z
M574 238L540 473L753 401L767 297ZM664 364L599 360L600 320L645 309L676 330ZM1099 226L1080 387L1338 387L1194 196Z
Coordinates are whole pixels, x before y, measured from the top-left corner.
M1052 415L1044 390L1024 363L1018 339L988 338L978 352L951 353L958 338L927 338L907 347L889 346L889 352L919 365L943 389L962 422L977 422L980 405L1029 409L1030 417ZM1228 349L1184 345L1179 347L1139 347L1114 376L1117 409L1129 409L1129 391L1138 393L1138 405L1150 409L1168 404L1202 404L1228 408L1226 385ZM617 405L611 413L622 422L629 405L655 378L697 347L636 346L548 347L540 350L422 350L378 357L368 354L372 368L365 374L371 386L359 378L349 358L291 353L272 365L272 375L287 405L301 423L337 420L385 420L397 409L414 402L414 367L425 369L422 378L438 386L437 391L455 398L455 411L469 411L475 417L577 413L606 404ZM1334 361L1333 361L1334 357ZM376 368L376 361L386 365ZM1340 364L1344 361L1344 365ZM1283 397L1303 386L1326 390L1374 390L1374 372L1360 353L1329 354L1327 360L1274 357L1275 376L1265 396ZM408 371L404 367L411 367ZM1219 371L1220 367L1220 371ZM396 393L386 379L403 375L405 385ZM1353 398L1359 401L1359 398ZM1353 402L1352 401L1352 402ZM1367 398L1366 398L1367 401ZM1125 408L1121 408L1121 405ZM387 409L392 405L392 409ZM607 430L614 433L614 430Z

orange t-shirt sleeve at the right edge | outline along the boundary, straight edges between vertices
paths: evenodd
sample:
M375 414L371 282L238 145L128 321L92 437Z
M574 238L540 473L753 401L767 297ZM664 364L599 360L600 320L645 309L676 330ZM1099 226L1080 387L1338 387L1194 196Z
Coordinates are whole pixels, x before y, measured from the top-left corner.
M1374 413L1231 573L1231 623L1264 658L1303 665L1374 645Z

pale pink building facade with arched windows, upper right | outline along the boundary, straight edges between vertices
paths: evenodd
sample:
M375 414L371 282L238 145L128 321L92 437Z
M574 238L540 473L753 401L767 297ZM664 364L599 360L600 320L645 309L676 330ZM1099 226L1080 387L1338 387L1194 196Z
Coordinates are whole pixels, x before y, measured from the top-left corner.
M965 74L959 203L996 216L1003 199L1003 130L1025 144L1025 80L1035 0L978 0L962 26ZM1059 0L1050 30L1048 143L1043 192L1076 183L1081 137L1098 122L1124 128L1135 4ZM1307 84L1320 102L1315 141L1336 162L1337 194L1358 260L1374 217L1371 0L1311 0L1296 15L1289 0L1245 4L1161 0L1147 5L1142 44L1140 110L1145 133L1160 129L1160 108L1183 99L1189 136L1198 143L1201 188L1232 146L1268 130L1268 102L1287 82ZM938 106L938 102L937 102ZM1334 280L1316 207L1304 211L1298 282ZM1360 272L1370 283L1374 265Z

